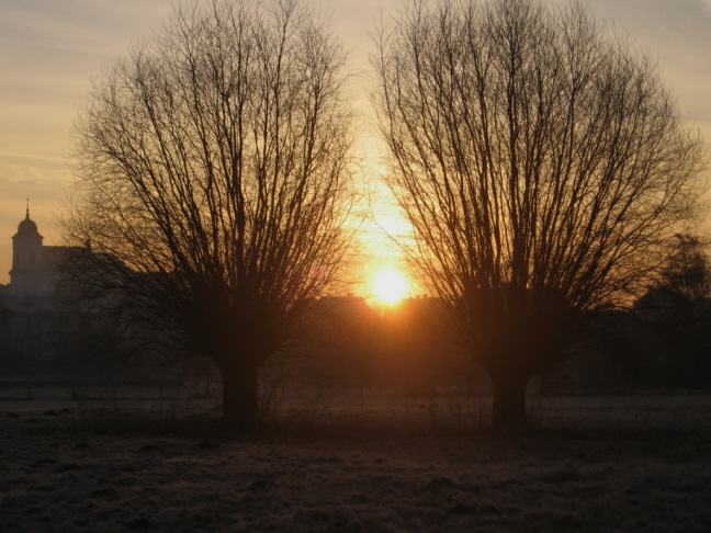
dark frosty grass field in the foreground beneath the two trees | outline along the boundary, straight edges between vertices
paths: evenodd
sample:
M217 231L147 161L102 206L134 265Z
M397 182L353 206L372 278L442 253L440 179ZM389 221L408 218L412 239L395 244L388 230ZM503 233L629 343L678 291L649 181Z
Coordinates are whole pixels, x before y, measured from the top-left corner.
M5 399L0 531L711 531L710 397L530 404L495 432L331 401L238 442L200 408Z

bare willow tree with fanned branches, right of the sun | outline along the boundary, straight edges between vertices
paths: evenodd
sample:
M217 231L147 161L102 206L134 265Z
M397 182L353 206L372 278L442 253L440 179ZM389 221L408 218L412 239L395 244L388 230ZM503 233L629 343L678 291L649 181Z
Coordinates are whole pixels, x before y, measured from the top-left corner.
M579 4L408 4L374 66L414 263L490 374L493 421L697 215L702 143L655 65Z

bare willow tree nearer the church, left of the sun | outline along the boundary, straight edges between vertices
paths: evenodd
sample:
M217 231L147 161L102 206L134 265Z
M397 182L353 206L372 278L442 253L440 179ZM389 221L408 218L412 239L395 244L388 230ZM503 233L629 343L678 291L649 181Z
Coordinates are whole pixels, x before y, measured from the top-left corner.
M66 229L91 242L84 286L212 359L236 431L348 252L343 61L295 0L193 2L108 66L76 126Z

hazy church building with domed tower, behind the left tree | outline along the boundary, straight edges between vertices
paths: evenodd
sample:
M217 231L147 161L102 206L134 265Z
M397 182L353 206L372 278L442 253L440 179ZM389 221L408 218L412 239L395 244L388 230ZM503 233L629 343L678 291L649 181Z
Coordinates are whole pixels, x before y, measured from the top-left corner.
M165 333L123 315L120 294L87 295L89 259L119 261L89 245L44 245L27 208L12 236L10 283L0 285L0 379L144 383L149 375L172 383L180 376L181 367L157 370L163 360L155 344Z

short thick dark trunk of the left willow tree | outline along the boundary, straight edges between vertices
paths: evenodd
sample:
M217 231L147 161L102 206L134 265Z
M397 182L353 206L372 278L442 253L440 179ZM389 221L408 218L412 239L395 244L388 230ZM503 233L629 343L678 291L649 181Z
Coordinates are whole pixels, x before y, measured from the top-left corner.
M221 370L223 417L226 429L247 436L259 424L259 366L229 365Z

